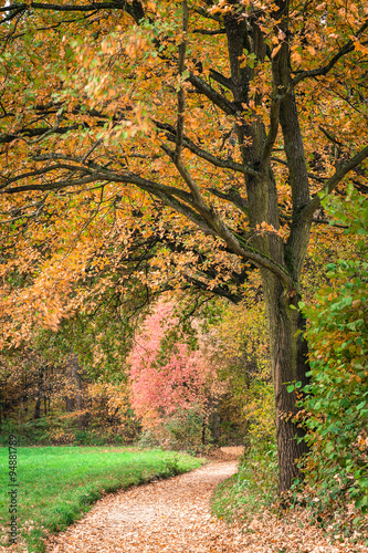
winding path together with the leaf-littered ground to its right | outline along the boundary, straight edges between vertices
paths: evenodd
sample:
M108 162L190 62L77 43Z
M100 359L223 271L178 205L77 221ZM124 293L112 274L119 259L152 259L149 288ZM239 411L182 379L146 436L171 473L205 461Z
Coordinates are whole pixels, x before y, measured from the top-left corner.
M357 553L362 545L330 544L305 513L287 521L270 513L246 528L211 517L215 487L236 471L236 451L169 480L106 495L78 523L53 536L49 553Z

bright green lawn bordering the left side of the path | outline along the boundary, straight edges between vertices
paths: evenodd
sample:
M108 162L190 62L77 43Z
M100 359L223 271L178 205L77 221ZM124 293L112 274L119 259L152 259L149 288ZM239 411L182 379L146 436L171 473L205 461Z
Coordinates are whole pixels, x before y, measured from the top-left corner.
M120 447L18 448L18 530L29 552L72 524L102 495L202 465L186 453ZM9 534L8 448L0 448L0 535ZM8 526L8 528L7 528ZM4 542L1 542L4 544Z

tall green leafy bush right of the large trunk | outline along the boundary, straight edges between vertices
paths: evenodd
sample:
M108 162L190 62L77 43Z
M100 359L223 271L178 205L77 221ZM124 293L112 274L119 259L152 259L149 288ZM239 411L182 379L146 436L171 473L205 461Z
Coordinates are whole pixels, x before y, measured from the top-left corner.
M359 512L368 512L368 201L350 187L345 199L325 199L324 207L348 226L351 251L327 265L316 304L299 304L311 349L301 405L312 448L305 477L319 512L354 502L358 523Z

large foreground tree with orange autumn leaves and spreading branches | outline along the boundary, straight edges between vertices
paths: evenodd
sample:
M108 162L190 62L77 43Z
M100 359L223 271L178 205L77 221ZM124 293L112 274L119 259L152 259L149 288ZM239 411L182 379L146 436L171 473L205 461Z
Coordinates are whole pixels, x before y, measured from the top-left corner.
M104 212L98 220L108 228L119 211L124 239L144 228L175 244L158 242L154 289L172 257L174 286L185 276L235 299L236 272L257 268L280 488L290 488L306 447L294 439L301 429L286 384L307 383L305 320L291 306L302 298L311 227L325 222L318 191L333 192L347 175L366 190L365 2L31 1L0 11L7 267L11 236L28 232L36 244L53 229L54 261L43 274L65 296L65 282L86 265L85 226ZM65 209L74 226L78 212L77 231L60 218ZM60 279L67 233L73 255ZM225 286L215 274L209 281L207 264Z

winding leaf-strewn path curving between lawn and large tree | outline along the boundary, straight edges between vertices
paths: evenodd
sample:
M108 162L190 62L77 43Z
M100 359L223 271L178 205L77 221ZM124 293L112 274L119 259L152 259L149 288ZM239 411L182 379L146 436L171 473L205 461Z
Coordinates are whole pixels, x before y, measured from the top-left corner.
M209 508L218 483L236 471L235 459L107 495L55 536L48 552L239 552L240 536L211 518Z

